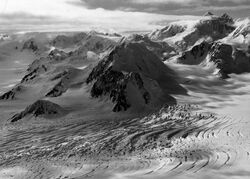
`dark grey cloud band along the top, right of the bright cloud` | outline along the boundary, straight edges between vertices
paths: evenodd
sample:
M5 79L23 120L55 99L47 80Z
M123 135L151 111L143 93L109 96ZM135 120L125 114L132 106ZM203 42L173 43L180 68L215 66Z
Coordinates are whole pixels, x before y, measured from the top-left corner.
M249 0L82 0L82 2L90 9L100 7L108 10L131 9L131 11L159 14L201 15L208 10L219 13L229 10L238 17L248 16L249 12L237 14L235 11L250 10Z

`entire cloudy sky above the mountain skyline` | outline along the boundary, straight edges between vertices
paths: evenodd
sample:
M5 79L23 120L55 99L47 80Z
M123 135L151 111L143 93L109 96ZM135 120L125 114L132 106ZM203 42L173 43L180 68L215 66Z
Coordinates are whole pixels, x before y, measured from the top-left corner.
M0 0L0 31L144 31L207 11L249 17L250 0Z

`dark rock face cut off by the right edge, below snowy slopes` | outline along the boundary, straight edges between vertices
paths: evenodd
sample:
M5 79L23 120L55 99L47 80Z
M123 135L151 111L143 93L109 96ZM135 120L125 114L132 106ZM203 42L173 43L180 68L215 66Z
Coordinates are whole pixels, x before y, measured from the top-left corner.
M216 64L222 78L230 73L250 72L250 55L229 44L215 43L208 59Z

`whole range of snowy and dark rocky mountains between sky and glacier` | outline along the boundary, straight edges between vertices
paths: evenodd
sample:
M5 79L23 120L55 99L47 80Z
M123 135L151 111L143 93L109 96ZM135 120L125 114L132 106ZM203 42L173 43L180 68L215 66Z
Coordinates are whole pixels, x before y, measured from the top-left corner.
M176 104L174 96L188 92L171 64L210 68L223 80L250 72L250 19L235 20L228 14L208 12L200 20L128 36L91 31L0 38L13 54L35 57L20 81L0 96L6 102L25 101L23 109L9 114L11 122L65 117L84 100L88 107L80 111L98 110L100 103L111 113Z

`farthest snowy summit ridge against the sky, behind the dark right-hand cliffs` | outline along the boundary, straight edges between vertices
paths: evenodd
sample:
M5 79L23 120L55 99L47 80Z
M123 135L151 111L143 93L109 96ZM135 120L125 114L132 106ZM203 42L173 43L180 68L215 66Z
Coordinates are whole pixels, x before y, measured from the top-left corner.
M165 41L182 51L200 40L222 39L234 29L234 21L227 14L222 16L206 15L200 20L172 22L163 29L150 33L149 38L155 41Z

